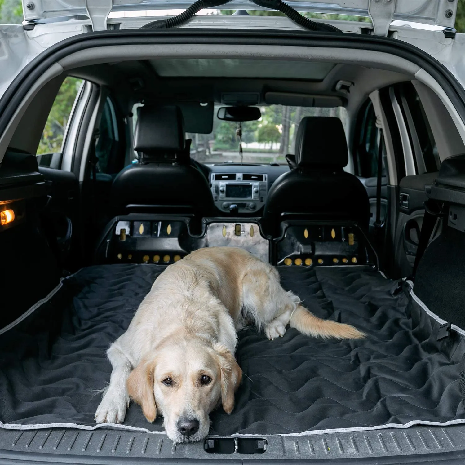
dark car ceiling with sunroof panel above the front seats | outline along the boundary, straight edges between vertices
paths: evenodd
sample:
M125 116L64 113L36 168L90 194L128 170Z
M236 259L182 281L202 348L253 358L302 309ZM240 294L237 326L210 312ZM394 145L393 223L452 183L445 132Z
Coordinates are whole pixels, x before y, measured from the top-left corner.
M258 94L257 103L260 105L347 106L351 100L358 100L357 94L367 95L376 88L409 79L400 73L354 64L303 60L214 60L127 60L81 66L68 74L113 88L125 111L130 111L133 103L138 101L227 103L223 98L225 93ZM286 66L286 72L279 73L283 66ZM213 69L218 75L209 76ZM349 93L336 89L340 80L353 83ZM364 88L361 88L362 84Z

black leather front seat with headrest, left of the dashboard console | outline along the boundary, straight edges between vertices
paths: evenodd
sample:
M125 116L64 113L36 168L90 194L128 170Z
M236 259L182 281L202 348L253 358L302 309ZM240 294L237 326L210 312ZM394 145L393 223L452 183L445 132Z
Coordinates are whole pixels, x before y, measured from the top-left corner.
M140 162L126 166L113 181L118 213L150 211L214 213L210 185L191 165L182 113L177 106L143 106L134 133Z

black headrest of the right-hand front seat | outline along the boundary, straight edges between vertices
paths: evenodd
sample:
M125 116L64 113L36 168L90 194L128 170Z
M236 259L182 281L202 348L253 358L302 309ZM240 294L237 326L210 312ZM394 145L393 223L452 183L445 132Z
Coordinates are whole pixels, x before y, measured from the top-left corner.
M306 116L296 136L299 168L343 168L349 162L344 126L333 116Z

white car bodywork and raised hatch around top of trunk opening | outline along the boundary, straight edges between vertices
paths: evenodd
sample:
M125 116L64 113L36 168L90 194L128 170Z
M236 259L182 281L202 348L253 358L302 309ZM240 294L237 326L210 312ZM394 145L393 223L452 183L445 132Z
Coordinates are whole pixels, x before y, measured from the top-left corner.
M22 0L22 25L0 26L0 97L14 77L50 46L78 34L138 29L152 20L181 13L191 0ZM457 1L320 0L287 2L300 12L370 17L358 21L320 20L347 33L389 35L430 54L465 87L465 34L455 33ZM221 8L260 9L250 0L232 0ZM225 16L204 10L183 28L301 30L288 18ZM203 13L203 14L202 14ZM318 20L317 20L318 21Z

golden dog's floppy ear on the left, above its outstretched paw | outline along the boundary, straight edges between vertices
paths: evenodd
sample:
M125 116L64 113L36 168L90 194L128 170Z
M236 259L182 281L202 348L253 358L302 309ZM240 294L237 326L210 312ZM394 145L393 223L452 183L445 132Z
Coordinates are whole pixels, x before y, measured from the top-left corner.
M143 360L133 369L126 381L129 397L142 407L142 413L150 423L157 417L157 406L153 396L154 369L154 361Z

